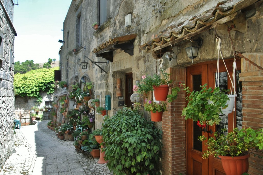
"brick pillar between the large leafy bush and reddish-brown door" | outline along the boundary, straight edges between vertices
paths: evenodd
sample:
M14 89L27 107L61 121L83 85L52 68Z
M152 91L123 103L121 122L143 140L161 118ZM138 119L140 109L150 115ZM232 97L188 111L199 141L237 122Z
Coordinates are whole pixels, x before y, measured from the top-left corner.
M171 74L170 79L173 80L174 86L179 86L179 82L185 83L184 68L169 68L166 72ZM177 175L186 172L185 119L181 117L184 107L185 92L181 87L177 99L167 103L168 111L163 114L163 175Z

